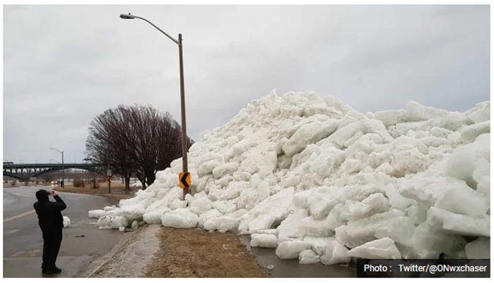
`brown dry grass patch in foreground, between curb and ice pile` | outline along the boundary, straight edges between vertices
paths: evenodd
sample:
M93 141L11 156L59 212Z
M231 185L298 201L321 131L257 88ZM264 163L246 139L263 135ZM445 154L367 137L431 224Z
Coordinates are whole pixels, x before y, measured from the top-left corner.
M144 277L270 277L232 233L161 227Z

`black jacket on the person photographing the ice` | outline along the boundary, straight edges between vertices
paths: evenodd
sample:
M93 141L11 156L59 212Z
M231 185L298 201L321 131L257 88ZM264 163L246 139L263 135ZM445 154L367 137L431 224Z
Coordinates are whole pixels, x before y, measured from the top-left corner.
M61 210L67 208L67 205L62 201L60 196L54 196L54 201L36 201L33 205L43 233L55 232L57 229L64 227L64 218L61 215Z

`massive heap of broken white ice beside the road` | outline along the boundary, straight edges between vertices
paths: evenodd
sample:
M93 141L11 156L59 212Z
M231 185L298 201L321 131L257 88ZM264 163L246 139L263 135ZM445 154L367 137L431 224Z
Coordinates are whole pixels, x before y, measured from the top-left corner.
M314 92L272 92L203 133L188 158L185 200L178 159L90 217L250 234L301 263L481 258L490 244L490 101L359 113Z

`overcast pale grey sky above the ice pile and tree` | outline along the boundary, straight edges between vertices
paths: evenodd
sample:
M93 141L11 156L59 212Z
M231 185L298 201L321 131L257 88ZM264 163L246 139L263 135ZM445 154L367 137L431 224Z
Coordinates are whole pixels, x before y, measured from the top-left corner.
M84 158L88 125L119 104L188 134L267 95L313 90L359 111L466 111L490 99L489 6L4 6L4 161Z

